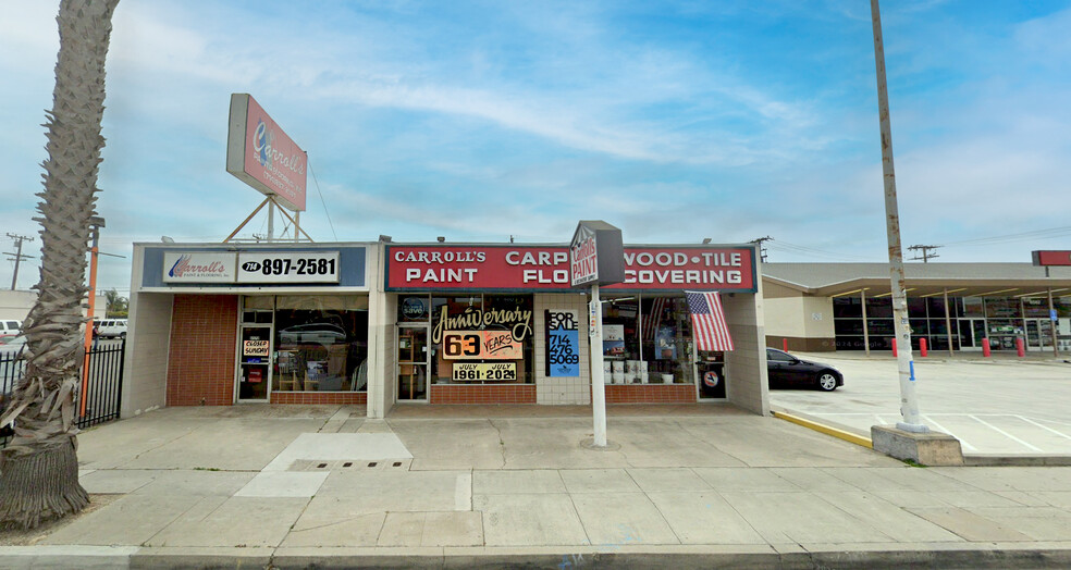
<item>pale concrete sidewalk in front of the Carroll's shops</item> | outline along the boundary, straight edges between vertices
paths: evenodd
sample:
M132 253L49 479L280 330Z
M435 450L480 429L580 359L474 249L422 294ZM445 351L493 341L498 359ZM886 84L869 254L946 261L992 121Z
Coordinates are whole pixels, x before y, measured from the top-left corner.
M1066 568L1071 468L911 468L718 405L168 408L2 568Z

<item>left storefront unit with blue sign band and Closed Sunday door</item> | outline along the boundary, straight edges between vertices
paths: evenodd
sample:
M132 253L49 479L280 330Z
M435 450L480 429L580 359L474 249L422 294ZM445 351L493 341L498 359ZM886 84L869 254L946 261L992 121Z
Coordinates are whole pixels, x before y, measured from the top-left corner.
M365 404L377 244L135 244L122 411ZM382 336L382 335L380 335Z

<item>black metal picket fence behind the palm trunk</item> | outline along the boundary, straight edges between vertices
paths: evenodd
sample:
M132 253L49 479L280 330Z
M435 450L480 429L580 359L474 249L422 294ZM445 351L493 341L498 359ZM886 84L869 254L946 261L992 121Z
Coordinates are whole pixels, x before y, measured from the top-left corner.
M119 419L120 398L123 396L123 361L126 358L126 339L97 340L89 349L87 387L85 395L78 395L74 402L78 428L88 428L98 423ZM0 345L0 396L7 406L15 385L22 379L25 362L22 360L22 349L3 350ZM83 399L84 406L83 406ZM84 413L83 413L84 408ZM0 432L0 447L7 445L10 436Z

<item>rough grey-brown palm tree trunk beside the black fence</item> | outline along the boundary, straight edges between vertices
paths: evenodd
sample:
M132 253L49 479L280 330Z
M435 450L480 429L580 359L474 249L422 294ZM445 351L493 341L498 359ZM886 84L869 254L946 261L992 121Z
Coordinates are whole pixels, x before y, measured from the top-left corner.
M74 424L84 346L86 243L95 214L97 166L104 139L104 59L119 0L62 0L60 51L48 159L37 209L41 277L23 326L26 371L0 425L15 435L0 454L0 528L38 524L78 512L89 496L78 483Z

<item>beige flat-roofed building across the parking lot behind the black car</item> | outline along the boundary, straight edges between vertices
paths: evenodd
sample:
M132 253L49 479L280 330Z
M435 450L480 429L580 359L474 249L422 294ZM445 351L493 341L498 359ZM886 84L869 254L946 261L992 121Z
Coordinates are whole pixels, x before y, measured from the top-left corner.
M762 273L767 346L891 349L888 264L765 263ZM1021 340L1051 352L1055 332L1057 350L1071 351L1071 268L909 263L904 280L914 349L925 339L930 350L1014 351Z

